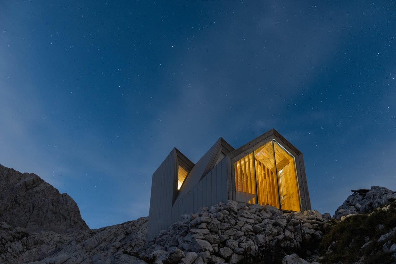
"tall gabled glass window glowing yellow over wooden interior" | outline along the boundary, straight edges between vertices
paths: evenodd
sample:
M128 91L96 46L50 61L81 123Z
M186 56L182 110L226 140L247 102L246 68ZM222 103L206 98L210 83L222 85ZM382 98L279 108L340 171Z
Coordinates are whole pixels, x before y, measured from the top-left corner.
M294 157L271 141L234 163L236 200L300 210Z

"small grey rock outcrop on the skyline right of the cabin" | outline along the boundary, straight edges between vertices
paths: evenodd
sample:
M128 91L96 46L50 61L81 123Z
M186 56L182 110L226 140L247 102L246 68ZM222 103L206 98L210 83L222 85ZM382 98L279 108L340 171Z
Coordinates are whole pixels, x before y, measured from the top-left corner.
M367 193L353 193L346 198L343 205L337 208L333 218L341 220L349 214L363 214L372 212L376 208L396 199L396 192L380 186L371 186Z

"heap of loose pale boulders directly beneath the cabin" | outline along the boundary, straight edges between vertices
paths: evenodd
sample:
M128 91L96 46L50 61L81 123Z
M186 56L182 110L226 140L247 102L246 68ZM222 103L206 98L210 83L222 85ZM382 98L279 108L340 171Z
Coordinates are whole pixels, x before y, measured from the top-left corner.
M315 210L285 213L232 200L183 218L140 249L140 257L155 263L276 263L292 253L313 254L330 226Z

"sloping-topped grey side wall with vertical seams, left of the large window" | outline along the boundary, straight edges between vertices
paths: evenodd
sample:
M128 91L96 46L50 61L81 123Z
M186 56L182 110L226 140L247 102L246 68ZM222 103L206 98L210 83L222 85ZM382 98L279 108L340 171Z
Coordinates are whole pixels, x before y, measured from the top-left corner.
M183 197L178 197L171 210L171 223L181 220L182 214L196 213L200 207L227 203L227 159L223 158ZM169 226L170 226L169 224Z

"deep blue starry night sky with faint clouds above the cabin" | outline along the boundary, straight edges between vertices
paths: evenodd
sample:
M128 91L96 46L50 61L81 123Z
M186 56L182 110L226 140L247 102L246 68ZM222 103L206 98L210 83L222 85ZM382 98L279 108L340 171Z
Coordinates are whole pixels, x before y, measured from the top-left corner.
M271 128L304 153L313 209L395 190L395 10L1 1L0 164L68 193L90 228L147 216L173 147L196 162Z

